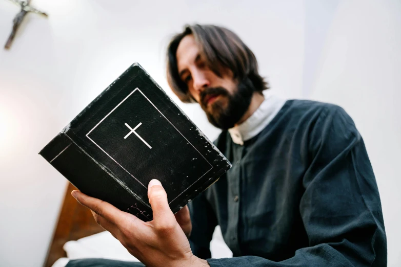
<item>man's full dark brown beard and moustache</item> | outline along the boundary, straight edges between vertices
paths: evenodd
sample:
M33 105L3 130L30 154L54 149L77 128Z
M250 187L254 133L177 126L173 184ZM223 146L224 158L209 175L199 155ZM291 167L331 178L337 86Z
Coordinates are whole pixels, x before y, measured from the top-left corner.
M209 87L201 92L200 104L211 124L226 130L234 127L248 110L255 88L249 79L240 81L233 94L224 87ZM207 96L219 96L211 104L205 102ZM224 101L225 100L225 101Z

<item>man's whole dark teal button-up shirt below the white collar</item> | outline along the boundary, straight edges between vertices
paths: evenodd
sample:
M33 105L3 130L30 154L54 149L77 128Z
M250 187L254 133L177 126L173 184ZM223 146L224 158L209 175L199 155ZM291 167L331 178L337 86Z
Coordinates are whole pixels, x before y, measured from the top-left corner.
M289 100L257 136L215 141L233 164L190 204L211 266L386 266L382 207L362 137L340 107ZM216 225L233 258L210 259Z

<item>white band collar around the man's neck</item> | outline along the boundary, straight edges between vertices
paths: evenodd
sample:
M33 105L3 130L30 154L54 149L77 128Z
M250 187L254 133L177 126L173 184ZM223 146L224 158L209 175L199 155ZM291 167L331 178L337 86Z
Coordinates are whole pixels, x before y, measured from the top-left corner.
M265 100L251 117L243 123L228 129L232 141L235 144L244 145L245 141L255 137L273 120L285 102L286 100L276 96L265 95Z

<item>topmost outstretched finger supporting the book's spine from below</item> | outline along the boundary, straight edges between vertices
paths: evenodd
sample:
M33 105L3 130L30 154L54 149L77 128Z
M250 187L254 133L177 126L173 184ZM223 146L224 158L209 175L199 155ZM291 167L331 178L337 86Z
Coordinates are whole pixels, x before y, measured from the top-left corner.
M97 215L100 215L110 221L112 224L115 225L120 225L124 221L124 218L127 216L126 212L123 212L113 205L101 201L98 198L94 198L91 196L88 196L82 192L79 192L78 190L74 190L71 192L72 196L75 197L75 199L84 205L85 207L91 209L94 211ZM133 216L135 217L135 216ZM137 219L136 217L133 219Z

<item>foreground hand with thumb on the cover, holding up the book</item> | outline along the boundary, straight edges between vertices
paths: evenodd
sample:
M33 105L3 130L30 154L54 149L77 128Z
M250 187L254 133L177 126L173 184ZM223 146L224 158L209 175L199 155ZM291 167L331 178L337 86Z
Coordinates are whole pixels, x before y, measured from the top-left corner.
M146 266L209 266L206 260L192 254L188 238L175 219L159 181L152 180L148 186L153 210L153 220L148 222L78 190L71 194L91 209L97 223Z

